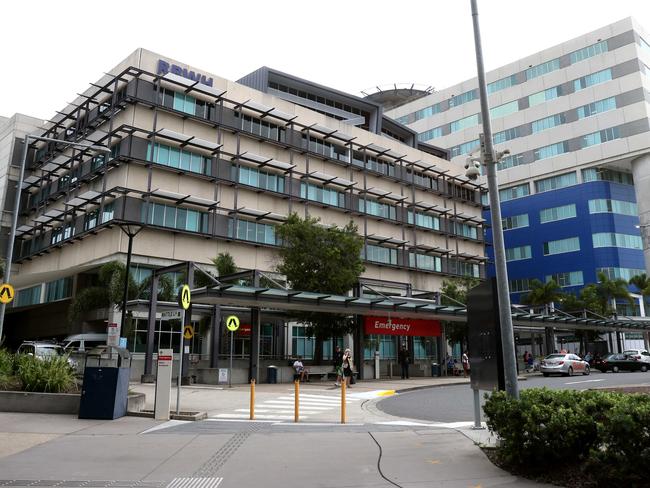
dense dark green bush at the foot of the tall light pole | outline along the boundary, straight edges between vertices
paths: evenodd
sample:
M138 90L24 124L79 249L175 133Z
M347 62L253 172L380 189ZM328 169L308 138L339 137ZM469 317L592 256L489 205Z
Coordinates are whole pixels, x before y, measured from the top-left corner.
M650 476L647 395L527 389L519 400L494 392L483 409L511 466L539 472L584 463L594 481L617 486Z

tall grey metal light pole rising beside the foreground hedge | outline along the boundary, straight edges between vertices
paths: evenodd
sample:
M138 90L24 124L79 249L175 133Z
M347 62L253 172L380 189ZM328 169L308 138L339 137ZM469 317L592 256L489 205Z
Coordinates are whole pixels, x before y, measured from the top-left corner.
M483 66L483 49L481 47L481 30L478 23L478 8L476 0L470 0L472 5L472 21L474 24L474 46L476 50L476 71L478 73L478 89L481 98L481 117L483 119L483 141L481 152L487 169L488 195L490 197L490 216L492 225L492 240L494 245L494 266L497 275L497 295L499 298L499 316L501 319L501 343L503 347L503 367L505 370L506 393L519 398L517 384L517 357L515 352L514 330L510 311L510 290L508 289L508 269L506 268L506 251L503 243L503 226L501 224L501 203L499 202L499 186L497 182L496 157L492 145L492 125L490 123L490 107L488 105L487 87L485 84L485 68Z

